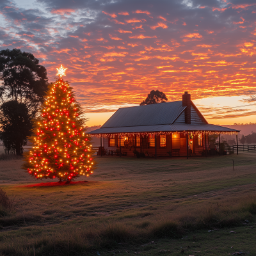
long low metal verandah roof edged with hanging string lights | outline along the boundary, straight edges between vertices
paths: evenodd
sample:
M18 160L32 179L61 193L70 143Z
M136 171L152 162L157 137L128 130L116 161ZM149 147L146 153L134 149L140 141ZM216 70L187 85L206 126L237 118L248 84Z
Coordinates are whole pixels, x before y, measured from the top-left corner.
M129 132L176 132L176 131L216 131L216 132L239 132L220 125L213 124L168 124L168 125L143 125L131 127L100 128L88 134L129 133Z

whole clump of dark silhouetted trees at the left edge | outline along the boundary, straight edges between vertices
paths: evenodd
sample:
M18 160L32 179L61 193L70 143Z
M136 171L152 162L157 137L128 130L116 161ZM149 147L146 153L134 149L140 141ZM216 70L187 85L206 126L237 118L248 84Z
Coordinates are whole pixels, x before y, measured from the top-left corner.
M22 154L47 87L46 69L33 54L0 51L0 140L6 152Z

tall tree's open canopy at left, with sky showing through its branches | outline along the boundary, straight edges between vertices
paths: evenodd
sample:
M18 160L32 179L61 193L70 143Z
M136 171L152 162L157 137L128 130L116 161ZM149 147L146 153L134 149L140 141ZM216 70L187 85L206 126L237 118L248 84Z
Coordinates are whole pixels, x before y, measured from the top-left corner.
M20 49L0 51L0 104L24 103L34 118L47 91L47 72L33 54Z

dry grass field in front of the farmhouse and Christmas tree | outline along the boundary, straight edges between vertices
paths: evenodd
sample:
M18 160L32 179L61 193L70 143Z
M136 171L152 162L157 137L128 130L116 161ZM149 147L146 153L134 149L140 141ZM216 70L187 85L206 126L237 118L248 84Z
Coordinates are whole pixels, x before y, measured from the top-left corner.
M0 255L256 255L255 152L97 163L86 182L36 186L20 159L0 161L15 200Z

